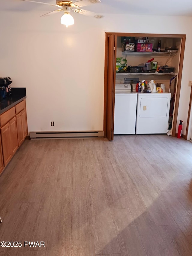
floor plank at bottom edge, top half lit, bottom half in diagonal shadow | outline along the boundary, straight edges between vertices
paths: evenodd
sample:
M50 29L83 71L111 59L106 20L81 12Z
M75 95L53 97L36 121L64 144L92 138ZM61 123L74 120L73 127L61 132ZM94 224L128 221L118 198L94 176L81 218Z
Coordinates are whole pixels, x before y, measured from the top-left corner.
M146 256L146 252L129 210L112 209L111 212L122 255Z

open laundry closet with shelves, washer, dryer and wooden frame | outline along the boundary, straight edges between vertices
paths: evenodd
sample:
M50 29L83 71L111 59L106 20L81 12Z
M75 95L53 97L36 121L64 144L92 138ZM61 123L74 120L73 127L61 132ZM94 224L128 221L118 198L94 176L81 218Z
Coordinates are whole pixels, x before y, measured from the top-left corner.
M175 136L184 44L185 35L106 33L104 135L109 140L114 134L167 130Z

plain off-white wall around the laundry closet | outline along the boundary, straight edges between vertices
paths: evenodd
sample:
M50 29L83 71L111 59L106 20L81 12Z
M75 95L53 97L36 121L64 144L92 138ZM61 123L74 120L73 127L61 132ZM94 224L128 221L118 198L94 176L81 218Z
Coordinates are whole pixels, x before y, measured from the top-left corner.
M192 80L192 17L0 13L0 76L26 87L29 131L103 130L105 32L187 34L178 120L186 130ZM11 18L10 18L11 16ZM146 22L145 22L146 20ZM55 126L50 126L50 121Z

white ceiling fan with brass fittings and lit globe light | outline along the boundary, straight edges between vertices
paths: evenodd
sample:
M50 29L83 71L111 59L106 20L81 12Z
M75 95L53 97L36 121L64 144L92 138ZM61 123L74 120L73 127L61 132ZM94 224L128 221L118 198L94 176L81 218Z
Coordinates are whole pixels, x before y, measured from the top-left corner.
M94 12L86 11L86 10L81 9L81 7L83 7L83 6L101 3L100 0L80 0L80 1L77 1L77 2L56 0L56 5L43 3L43 2L31 1L31 0L20 0L20 1L33 2L33 3L38 3L38 4L52 5L52 6L59 7L60 9L48 12L44 15L41 15L41 17L42 16L47 16L49 14L54 14L54 13L64 11L64 15L61 17L61 24L66 25L66 27L68 27L69 25L74 24L74 19L70 15L71 10L73 10L76 13L80 13L80 14L95 17L97 19L104 17L103 15L98 15L98 14L95 14Z

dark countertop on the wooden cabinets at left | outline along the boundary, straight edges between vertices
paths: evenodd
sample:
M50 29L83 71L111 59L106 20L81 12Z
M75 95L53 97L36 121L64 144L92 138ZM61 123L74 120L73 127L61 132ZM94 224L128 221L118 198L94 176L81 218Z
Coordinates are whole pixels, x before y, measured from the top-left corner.
M0 114L14 107L26 98L26 88L11 88L11 95L5 99L0 98Z

